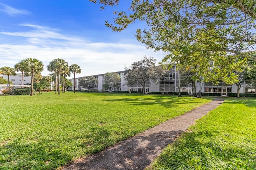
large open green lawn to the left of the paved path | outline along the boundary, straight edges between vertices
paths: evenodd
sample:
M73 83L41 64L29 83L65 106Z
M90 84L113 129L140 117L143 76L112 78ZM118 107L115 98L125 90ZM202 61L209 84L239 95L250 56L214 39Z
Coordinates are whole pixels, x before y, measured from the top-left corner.
M56 169L210 100L72 92L0 96L0 169Z

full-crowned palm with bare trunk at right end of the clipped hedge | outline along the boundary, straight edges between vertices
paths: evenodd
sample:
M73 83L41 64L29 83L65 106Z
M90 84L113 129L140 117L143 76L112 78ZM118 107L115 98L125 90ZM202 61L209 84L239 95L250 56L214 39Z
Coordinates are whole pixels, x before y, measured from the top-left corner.
M31 75L31 90L30 90L30 96L33 95L33 83L34 83L34 75L36 73L40 73L44 70L44 65L42 61L39 61L38 59L24 59L22 60L24 62L26 68L24 71Z

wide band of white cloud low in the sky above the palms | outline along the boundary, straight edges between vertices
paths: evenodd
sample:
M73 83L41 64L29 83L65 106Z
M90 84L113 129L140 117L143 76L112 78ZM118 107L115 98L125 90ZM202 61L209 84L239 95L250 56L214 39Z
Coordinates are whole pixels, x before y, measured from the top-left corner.
M83 37L64 35L48 27L22 26L34 29L27 32L0 32L14 39L18 36L26 40L23 44L0 44L0 67L14 66L20 60L31 57L43 62L45 70L42 75L46 76L49 62L62 58L69 65L78 64L81 67L82 72L77 76L89 76L124 70L125 64L129 66L145 55L155 57L158 61L162 59L162 53L146 50L144 45L89 42Z

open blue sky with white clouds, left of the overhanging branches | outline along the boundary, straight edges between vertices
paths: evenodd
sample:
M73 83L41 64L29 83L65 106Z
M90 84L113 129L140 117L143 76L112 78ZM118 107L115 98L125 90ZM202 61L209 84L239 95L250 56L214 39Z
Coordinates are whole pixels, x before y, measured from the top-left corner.
M137 22L122 32L112 32L104 23L115 10L126 10L128 2L100 10L88 0L1 0L0 67L25 58L46 66L57 58L81 67L79 76L124 70L143 56L160 61L162 53L147 50L134 36L144 23Z

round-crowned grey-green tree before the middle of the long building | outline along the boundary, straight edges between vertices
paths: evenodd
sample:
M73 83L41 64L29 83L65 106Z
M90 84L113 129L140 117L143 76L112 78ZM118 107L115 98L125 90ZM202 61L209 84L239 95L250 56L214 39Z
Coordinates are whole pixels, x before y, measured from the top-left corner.
M140 84L145 94L145 86L147 81L157 83L166 74L167 70L162 66L156 66L156 59L153 57L143 57L140 61L133 62L130 67L125 68L126 84L134 86Z

